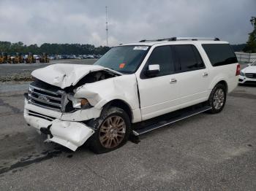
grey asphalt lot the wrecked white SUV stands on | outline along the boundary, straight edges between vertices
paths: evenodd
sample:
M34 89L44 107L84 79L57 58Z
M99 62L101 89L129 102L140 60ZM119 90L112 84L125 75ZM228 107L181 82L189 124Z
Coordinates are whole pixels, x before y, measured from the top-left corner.
M220 114L95 155L43 143L23 120L26 86L0 88L0 190L255 190L256 87L237 87Z

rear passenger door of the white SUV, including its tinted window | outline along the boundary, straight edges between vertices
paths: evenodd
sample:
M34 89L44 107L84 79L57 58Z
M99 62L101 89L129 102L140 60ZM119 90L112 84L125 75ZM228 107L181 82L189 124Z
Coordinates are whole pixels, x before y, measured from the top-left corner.
M209 74L203 59L193 44L173 45L176 55L175 80L179 87L181 107L208 99Z

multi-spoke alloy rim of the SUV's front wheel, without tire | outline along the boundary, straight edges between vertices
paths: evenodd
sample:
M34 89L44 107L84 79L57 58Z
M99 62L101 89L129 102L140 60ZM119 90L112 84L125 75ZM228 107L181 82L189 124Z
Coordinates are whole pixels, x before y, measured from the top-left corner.
M103 147L112 149L123 141L126 132L124 119L117 115L108 117L99 129L99 141Z

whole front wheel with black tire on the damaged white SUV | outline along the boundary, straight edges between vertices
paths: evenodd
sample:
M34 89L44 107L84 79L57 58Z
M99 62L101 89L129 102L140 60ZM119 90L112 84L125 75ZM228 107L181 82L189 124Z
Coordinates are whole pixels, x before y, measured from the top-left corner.
M123 146L131 132L128 114L118 107L103 110L101 116L91 120L88 125L95 130L89 139L89 148L98 154Z

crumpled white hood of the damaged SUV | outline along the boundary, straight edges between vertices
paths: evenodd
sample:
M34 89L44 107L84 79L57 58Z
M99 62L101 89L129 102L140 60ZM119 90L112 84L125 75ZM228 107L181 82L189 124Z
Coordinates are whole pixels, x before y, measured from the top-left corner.
M103 66L97 65L80 65L80 64L67 64L56 63L42 69L32 71L31 75L37 79L42 80L50 85L61 87L69 87L76 85L80 79L85 77L91 71L110 70ZM117 71L113 71L119 74Z

